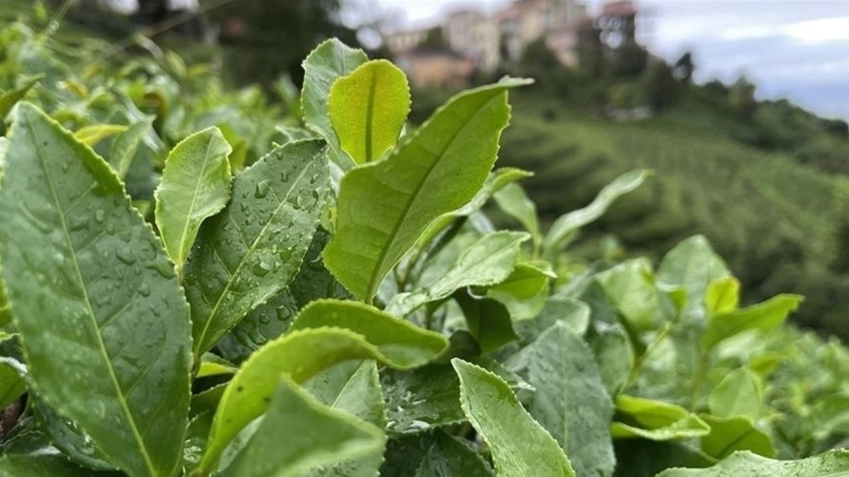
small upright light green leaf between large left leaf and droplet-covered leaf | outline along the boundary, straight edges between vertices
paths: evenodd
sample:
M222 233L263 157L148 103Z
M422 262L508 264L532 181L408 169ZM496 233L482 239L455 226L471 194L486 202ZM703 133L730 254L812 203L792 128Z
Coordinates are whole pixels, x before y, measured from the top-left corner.
M182 275L200 222L220 212L230 199L233 148L217 127L186 137L171 149L156 188L156 226Z

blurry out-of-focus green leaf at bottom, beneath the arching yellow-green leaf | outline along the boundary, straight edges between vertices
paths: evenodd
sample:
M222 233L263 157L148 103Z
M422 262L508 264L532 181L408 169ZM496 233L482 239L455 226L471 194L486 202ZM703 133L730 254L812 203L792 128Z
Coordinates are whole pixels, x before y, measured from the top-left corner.
M385 435L281 379L268 411L222 477L298 477L308 469L380 452Z

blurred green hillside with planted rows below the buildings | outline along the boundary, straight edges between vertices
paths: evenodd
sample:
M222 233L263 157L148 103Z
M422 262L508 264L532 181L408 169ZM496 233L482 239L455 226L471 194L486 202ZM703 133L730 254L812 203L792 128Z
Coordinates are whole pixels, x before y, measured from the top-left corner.
M800 323L846 337L849 140L829 124L784 102L740 121L697 87L649 120L616 122L531 90L517 95L500 164L536 173L526 188L548 220L621 172L649 167L655 178L588 237L611 233L628 252L660 255L704 233L748 300L801 293Z

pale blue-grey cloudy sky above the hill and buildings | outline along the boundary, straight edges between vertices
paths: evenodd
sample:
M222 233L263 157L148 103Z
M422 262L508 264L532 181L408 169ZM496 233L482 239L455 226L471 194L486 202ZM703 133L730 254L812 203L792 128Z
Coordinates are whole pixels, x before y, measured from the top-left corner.
M408 25L426 25L454 0L380 0ZM503 1L464 0L494 10ZM603 0L589 0L597 11ZM677 59L694 53L699 81L745 74L761 98L790 98L819 115L849 119L849 0L638 0L644 43Z

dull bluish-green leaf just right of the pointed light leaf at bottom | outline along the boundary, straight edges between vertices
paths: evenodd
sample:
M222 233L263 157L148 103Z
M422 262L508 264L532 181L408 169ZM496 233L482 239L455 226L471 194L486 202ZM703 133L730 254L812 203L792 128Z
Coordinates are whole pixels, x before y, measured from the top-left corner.
M528 411L563 447L578 475L611 475L613 402L593 351L556 323L530 345L528 383L537 391Z

